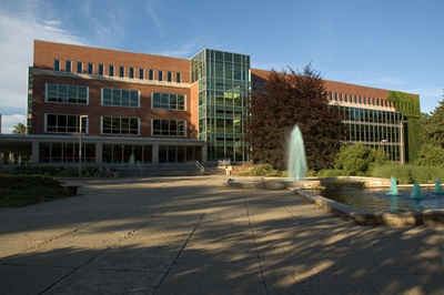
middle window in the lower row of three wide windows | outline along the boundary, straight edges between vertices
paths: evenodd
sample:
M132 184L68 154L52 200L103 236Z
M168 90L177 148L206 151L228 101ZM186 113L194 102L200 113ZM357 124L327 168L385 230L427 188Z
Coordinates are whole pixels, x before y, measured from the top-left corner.
M139 134L139 118L102 115L103 134Z

